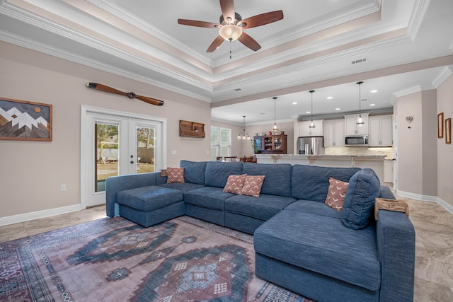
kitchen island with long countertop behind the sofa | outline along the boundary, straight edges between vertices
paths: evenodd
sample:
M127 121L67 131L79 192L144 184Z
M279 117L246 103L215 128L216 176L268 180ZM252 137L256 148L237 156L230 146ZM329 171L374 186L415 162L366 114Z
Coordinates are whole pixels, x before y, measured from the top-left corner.
M384 182L384 155L300 155L256 154L258 163L290 163L324 167L372 168Z

